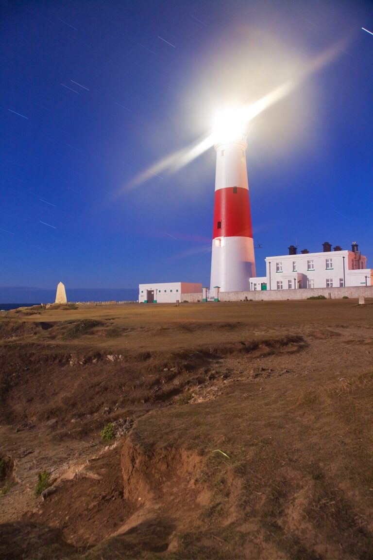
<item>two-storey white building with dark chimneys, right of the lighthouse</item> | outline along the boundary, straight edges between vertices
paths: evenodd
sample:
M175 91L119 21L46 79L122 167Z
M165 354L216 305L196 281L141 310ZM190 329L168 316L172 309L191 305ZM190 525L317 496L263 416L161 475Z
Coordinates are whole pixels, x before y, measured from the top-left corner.
M266 277L250 278L251 290L297 290L299 288L337 288L372 286L373 270L366 268L366 256L358 251L354 242L352 250L343 251L325 242L322 253L309 253L306 249L296 254L289 247L289 255L267 256Z

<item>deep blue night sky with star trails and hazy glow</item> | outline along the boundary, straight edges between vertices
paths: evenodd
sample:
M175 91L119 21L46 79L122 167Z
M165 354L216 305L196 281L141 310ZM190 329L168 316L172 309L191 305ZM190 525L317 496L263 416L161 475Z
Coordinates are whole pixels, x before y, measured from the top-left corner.
M214 148L133 180L208 133L220 106L289 81L249 123L257 274L290 244L324 241L356 240L373 266L371 1L0 5L0 286L11 300L59 281L207 286Z

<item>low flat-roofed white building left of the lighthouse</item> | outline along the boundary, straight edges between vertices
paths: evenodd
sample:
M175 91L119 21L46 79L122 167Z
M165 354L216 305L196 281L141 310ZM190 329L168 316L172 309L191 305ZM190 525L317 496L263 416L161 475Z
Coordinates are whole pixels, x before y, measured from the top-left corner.
M139 303L141 304L174 304L182 301L182 293L200 293L202 284L191 282L153 282L139 284Z

